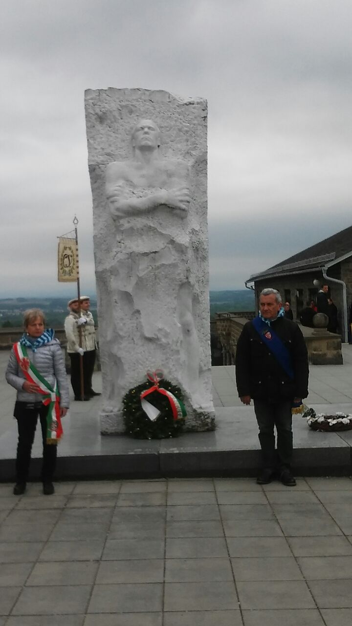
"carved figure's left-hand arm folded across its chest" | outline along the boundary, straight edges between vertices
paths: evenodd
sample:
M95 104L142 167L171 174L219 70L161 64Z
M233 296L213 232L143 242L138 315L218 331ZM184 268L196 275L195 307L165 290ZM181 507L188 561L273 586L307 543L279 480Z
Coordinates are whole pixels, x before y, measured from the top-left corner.
M173 189L131 188L119 163L110 163L106 168L106 198L115 218L138 215L153 210L161 205L180 210L180 217L185 217L190 203L189 189L185 183Z

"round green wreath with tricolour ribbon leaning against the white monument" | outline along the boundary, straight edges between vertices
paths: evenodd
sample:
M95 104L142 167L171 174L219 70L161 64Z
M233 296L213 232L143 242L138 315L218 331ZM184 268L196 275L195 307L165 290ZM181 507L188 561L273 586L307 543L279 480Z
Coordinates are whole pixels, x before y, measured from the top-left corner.
M162 371L147 372L147 382L123 396L126 432L136 439L177 437L186 417L182 399L180 387L164 379Z

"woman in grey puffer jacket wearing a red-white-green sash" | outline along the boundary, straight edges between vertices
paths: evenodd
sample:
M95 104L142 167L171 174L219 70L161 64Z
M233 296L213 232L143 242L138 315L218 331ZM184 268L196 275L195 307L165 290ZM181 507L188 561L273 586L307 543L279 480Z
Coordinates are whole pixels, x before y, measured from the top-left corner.
M53 329L44 330L44 324L40 309L24 312L24 334L14 344L6 369L6 380L17 390L14 418L18 424L18 446L14 495L26 491L38 416L43 435L43 493L54 493L57 443L63 432L61 418L68 411L69 391L60 341L54 339Z

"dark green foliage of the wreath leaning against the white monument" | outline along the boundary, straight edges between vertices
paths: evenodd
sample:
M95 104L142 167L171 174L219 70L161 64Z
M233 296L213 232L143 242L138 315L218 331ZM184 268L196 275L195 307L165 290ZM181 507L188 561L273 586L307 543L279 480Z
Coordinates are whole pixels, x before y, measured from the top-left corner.
M140 403L140 394L145 389L153 386L153 382L145 381L137 387L132 387L130 391L123 396L122 414L125 423L126 432L131 434L135 439L167 439L179 436L184 427L185 420L173 419L170 402L166 396L153 391L147 396L150 404L153 404L160 411L160 415L155 421L148 418L143 411ZM160 387L170 391L176 398L183 400L183 394L180 387L173 385L170 381L162 379Z

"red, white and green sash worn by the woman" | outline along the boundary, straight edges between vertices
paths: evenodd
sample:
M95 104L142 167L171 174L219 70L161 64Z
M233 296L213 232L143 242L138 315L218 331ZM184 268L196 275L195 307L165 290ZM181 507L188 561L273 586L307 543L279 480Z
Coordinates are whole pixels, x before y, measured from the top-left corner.
M19 367L23 371L28 382L38 385L38 393L43 394L44 406L49 406L46 416L46 443L57 444L63 435L63 427L60 418L60 392L58 384L55 382L55 389L51 387L49 382L42 376L38 369L28 358L28 352L25 346L19 342L14 344L14 354L18 361Z

